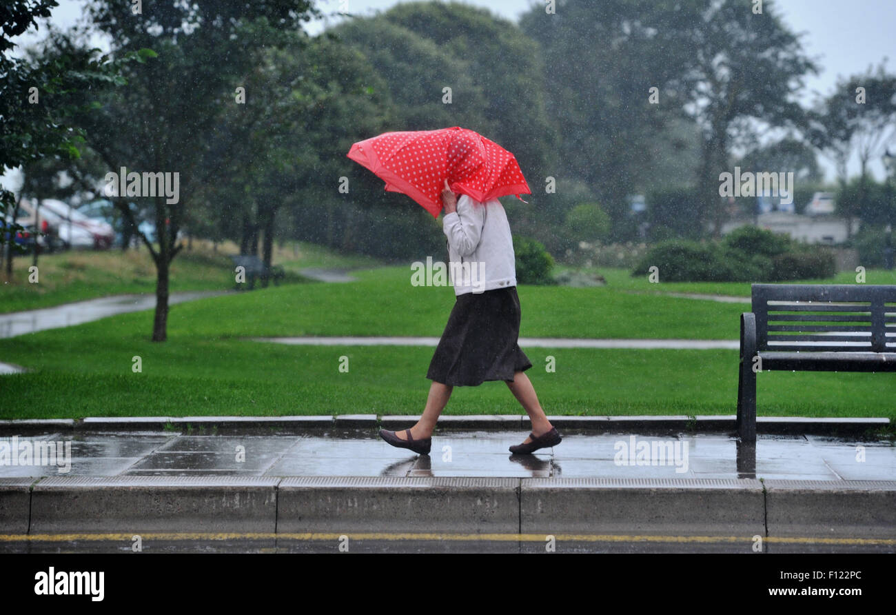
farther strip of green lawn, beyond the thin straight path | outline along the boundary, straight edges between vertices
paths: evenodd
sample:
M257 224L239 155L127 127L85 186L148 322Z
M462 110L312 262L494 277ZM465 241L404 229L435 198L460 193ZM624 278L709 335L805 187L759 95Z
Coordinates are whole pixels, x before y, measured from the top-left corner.
M410 267L352 273L358 282L284 285L172 307L169 335L202 339L283 335L439 336L451 287L415 287ZM521 286L523 337L737 339L745 306L641 296L608 287ZM150 333L150 314L103 321ZM54 334L61 334L56 332ZM23 339L23 338L17 338ZM3 355L0 355L3 356Z

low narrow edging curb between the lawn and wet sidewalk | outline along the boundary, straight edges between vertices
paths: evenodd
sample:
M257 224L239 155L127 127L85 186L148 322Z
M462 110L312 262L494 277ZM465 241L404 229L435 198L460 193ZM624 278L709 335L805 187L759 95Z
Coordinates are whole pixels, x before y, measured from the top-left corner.
M88 417L73 419L0 420L0 437L46 434L51 432L91 431L176 431L196 430L286 432L301 434L309 429L399 429L416 420L417 415L339 414L281 417ZM686 416L548 416L557 429L576 429L594 433L639 432L735 432L735 415ZM864 436L869 430L889 426L887 418L803 418L759 417L756 431L774 435ZM518 414L443 415L438 429L529 429L529 419Z

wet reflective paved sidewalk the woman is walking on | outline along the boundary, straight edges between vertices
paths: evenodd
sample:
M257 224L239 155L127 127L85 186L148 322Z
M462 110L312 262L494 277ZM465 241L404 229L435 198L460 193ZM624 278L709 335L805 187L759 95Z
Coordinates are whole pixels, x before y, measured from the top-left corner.
M394 448L369 429L319 429L307 435L183 435L177 432L47 433L22 441L71 442L70 470L12 465L0 438L0 477L23 476L407 476L625 479L896 480L889 441L821 436L760 436L754 447L725 434L588 434L535 455L511 455L514 431L441 431L430 455ZM66 445L68 446L68 445ZM62 445L60 450L64 450ZM37 463L37 460L35 460Z

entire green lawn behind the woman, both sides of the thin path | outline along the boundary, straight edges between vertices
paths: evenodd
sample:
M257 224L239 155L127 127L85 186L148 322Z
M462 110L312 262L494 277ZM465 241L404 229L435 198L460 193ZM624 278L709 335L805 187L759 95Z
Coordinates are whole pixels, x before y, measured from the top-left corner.
M168 342L151 311L0 340L0 360L35 371L0 379L0 417L418 414L432 348L308 347L247 336L438 336L450 287L410 285L409 267L359 282L294 284L171 308ZM600 288L519 289L521 336L737 339L744 306ZM548 413L733 414L737 351L526 349ZM556 373L545 371L547 355ZM340 373L340 356L349 372ZM142 359L142 373L132 358ZM762 373L760 415L889 416L886 374ZM447 413L520 413L502 383L456 389Z

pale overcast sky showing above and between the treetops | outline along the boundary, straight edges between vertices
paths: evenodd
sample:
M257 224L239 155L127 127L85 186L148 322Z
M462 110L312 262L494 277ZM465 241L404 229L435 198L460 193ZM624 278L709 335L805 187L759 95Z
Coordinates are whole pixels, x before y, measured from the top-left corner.
M342 0L319 0L324 13L337 13ZM349 13L373 14L387 9L401 0L345 0ZM599 1L599 0L591 0ZM748 0L745 0L747 3ZM539 0L464 0L463 4L483 6L493 13L516 22L521 13L532 6L544 6ZM806 91L802 102L808 106L818 96L829 95L833 91L838 75L848 76L866 71L869 65L879 65L884 57L891 57L896 50L893 32L896 30L896 0L778 0L778 10L784 15L791 29L805 32L804 48L809 56L816 58L822 67L817 76L806 78ZM79 0L59 0L50 21L65 28L73 25L82 13L83 3ZM323 23L312 24L309 31L316 33L323 29ZM31 37L24 38L25 40ZM892 72L896 70L893 61L887 64ZM833 178L831 164L819 158L819 162ZM883 178L883 167L874 161L874 174ZM857 163L851 165L850 174L857 173Z

